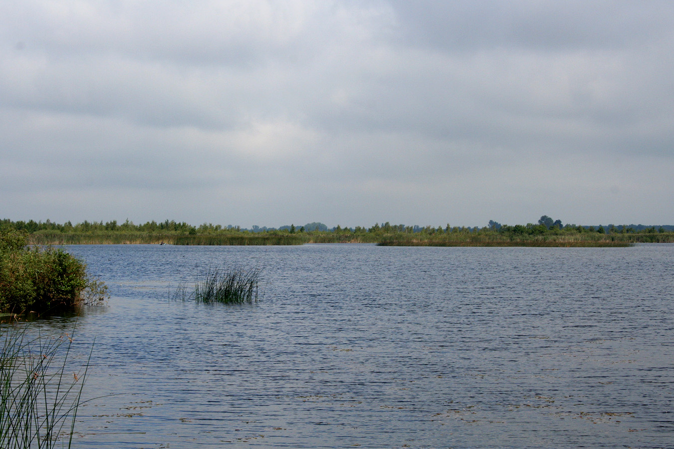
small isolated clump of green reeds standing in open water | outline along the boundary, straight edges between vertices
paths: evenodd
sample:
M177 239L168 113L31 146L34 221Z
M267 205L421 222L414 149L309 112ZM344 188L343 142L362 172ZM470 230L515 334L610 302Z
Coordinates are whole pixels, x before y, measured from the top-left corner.
M258 268L209 268L196 282L195 300L225 304L256 302L261 272Z

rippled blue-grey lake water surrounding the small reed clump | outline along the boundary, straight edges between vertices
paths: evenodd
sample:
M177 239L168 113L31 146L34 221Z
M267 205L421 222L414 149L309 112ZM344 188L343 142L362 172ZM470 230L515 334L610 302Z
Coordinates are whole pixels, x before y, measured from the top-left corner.
M83 396L122 393L75 448L674 448L674 245L68 249L112 295ZM262 301L169 300L222 264Z

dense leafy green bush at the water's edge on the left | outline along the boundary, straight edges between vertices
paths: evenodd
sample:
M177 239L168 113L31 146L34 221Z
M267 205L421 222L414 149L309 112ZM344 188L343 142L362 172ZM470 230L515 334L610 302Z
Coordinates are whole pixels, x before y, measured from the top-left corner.
M0 229L0 312L44 313L97 303L107 287L84 262L53 247L28 247L27 235Z

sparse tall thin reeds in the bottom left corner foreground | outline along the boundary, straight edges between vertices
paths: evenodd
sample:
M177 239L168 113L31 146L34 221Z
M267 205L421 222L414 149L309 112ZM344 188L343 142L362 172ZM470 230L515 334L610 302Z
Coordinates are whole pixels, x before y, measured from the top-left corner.
M71 371L70 336L0 329L0 448L70 448L89 359Z

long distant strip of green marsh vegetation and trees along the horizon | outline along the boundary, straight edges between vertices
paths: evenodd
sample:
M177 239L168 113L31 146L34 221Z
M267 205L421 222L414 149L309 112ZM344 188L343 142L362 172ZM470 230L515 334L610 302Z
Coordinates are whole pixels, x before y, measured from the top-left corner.
M385 222L372 227L328 229L320 223L278 229L241 229L210 223L198 227L166 220L134 225L111 222L83 222L64 225L50 222L12 222L5 227L29 233L36 245L76 245L135 243L171 245L302 245L304 243L377 243L380 245L427 246L628 246L632 243L672 243L674 226L643 225L585 226L563 224L541 216L537 223L501 225L493 220L485 227L406 226Z

